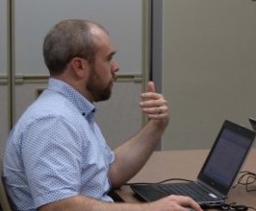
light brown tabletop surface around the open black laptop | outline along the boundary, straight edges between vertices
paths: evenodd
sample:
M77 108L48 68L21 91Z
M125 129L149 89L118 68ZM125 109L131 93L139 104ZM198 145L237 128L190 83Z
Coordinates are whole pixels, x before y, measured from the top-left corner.
M131 182L158 182L167 178L187 178L194 180L201 169L208 150L153 152L141 172ZM249 152L243 171L256 173L256 148ZM256 189L256 182L249 186ZM129 186L124 185L115 193L125 202L138 202ZM228 194L227 203L237 202L256 208L256 191L246 192L245 186L238 185Z

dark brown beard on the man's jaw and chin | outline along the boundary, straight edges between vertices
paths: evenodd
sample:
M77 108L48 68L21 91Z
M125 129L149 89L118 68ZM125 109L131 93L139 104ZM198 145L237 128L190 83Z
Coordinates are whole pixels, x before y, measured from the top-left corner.
M100 80L99 75L96 73L93 66L91 66L87 89L90 91L94 102L107 101L110 99L112 94L114 80L110 81L108 85L104 87L100 84Z

